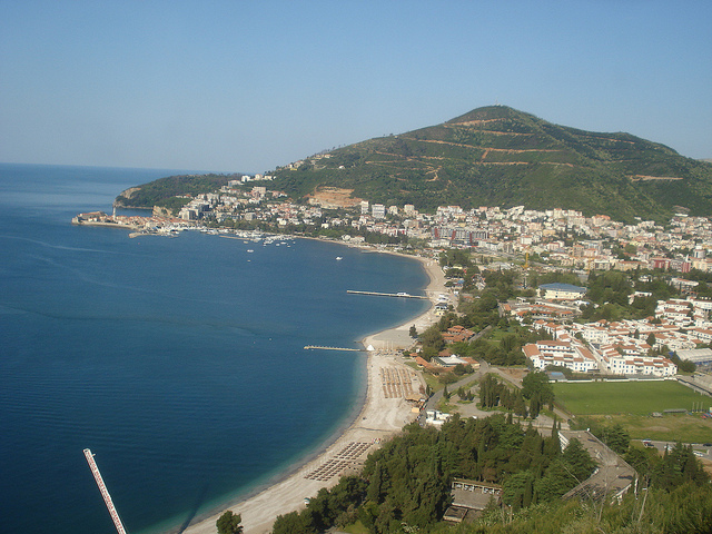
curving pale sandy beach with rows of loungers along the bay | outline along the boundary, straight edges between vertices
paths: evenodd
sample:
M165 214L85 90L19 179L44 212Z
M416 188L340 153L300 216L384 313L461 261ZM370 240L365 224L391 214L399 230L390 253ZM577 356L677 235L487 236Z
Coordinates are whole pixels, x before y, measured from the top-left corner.
M447 293L443 271L435 260L416 259L423 263L431 278L426 291L434 303L439 294ZM417 395L422 382L419 375L403 363L397 349L413 345L408 335L412 325L423 332L435 319L432 304L419 317L363 340L365 347L370 345L374 350L368 353L368 385L359 415L316 458L257 495L225 508L243 516L245 534L269 533L278 515L304 508L306 497L315 496L322 487L332 487L342 475L358 471L382 441L415 421L417 413L406 396ZM190 525L185 534L216 534L220 514Z

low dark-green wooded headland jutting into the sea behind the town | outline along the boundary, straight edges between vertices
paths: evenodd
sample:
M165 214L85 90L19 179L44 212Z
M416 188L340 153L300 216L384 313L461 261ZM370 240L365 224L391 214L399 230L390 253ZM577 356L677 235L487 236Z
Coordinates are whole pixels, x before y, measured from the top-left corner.
M113 204L126 208L171 207L175 197L212 192L241 175L182 175L159 178L122 191Z

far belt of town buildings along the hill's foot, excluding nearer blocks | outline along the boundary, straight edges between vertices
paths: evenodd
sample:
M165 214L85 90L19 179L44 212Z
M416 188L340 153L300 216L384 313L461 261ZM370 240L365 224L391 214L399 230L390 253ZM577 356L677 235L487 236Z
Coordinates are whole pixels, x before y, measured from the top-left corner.
M248 178L248 179L246 179ZM78 221L103 221L157 230L196 225L222 228L260 228L264 231L306 234L338 238L354 244L364 235L385 236L374 244L416 241L429 248L472 248L503 255L528 255L532 261L560 267L595 270L664 269L688 273L712 270L712 221L706 217L676 214L662 226L653 220L624 224L605 215L584 217L567 209L536 211L479 207L464 210L442 206L435 214L415 206L384 206L355 200L349 190L330 188L308 198L307 204L288 201L285 192L269 190L255 181L271 180L256 175L230 180L219 191L186 199L176 217L109 217L81 214ZM330 195L329 195L330 194Z

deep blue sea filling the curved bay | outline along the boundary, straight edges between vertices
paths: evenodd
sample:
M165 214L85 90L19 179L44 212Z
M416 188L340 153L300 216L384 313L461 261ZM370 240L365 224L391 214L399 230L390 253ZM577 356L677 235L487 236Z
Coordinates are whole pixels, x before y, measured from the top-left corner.
M220 512L356 417L364 353L305 346L425 310L346 293L423 294L409 258L71 225L182 172L0 164L0 532L116 532L85 448L131 534Z

